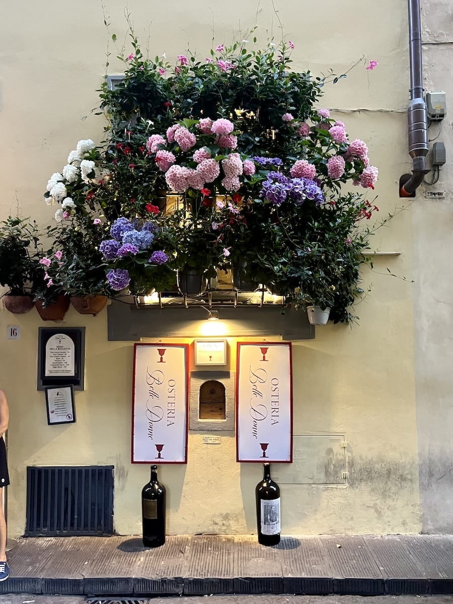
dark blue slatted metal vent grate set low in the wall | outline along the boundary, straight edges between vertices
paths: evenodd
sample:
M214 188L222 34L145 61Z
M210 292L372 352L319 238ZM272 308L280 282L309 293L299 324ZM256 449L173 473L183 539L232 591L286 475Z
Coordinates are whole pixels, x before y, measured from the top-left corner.
M27 467L25 536L112 535L113 469Z

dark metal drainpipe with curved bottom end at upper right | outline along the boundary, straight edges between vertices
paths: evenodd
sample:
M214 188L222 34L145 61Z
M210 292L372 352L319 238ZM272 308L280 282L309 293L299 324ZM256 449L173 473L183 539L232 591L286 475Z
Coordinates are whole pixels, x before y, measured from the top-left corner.
M423 100L422 29L420 1L408 0L409 57L411 71L411 102L408 106L409 155L413 158L412 176L400 187L399 196L409 197L422 184L429 170L425 169L428 155L428 110Z

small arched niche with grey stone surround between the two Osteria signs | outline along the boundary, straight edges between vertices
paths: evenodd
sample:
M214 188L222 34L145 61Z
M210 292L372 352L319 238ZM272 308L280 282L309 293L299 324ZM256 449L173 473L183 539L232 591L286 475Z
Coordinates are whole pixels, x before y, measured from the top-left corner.
M191 371L189 429L234 431L234 371Z

